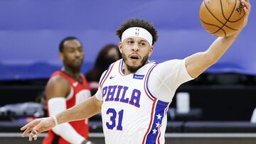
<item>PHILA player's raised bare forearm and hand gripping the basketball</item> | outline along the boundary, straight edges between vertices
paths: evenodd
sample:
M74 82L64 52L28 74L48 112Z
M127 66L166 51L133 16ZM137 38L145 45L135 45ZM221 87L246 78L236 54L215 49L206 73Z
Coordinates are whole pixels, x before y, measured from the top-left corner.
M250 1L243 0L242 1L245 9L245 18L242 25L244 28L247 25L248 17L250 14ZM215 64L220 60L220 57L230 48L230 45L233 44L235 39L238 37L239 33L242 31L230 35L228 37L220 37L217 38L212 45L205 52L198 52L186 58L186 69L188 70L188 74L191 77L198 77L201 73L203 73L208 67Z

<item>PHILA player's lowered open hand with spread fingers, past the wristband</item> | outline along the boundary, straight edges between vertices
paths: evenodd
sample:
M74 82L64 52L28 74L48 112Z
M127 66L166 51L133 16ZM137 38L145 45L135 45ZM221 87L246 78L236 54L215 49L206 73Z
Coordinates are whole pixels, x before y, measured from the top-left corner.
M21 131L25 130L22 134L22 137L25 137L27 133L31 132L28 140L37 140L39 133L48 131L54 126L55 122L52 117L35 119L34 121L31 121L21 128Z

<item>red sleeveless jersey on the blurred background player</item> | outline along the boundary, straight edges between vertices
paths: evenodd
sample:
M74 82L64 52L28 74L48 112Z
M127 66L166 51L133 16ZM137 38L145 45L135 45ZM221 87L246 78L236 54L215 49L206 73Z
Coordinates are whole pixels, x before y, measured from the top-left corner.
M66 99L66 105L67 109L69 109L72 106L75 106L75 104L78 104L80 101L83 101L91 96L90 94L90 88L87 84L87 81L83 74L80 74L82 77L82 84L72 77L70 77L68 74L65 74L62 71L56 71L54 72L51 77L55 77L56 75L61 75L62 77L65 77L65 79L68 79L68 82L70 82L70 94L65 98ZM80 135L85 137L86 139L89 136L89 121L88 120L81 120L81 121L71 121L69 122L71 126L77 131ZM60 135L57 135L53 133L53 131L48 131L48 135L43 140L43 144L68 144L66 140L60 137Z

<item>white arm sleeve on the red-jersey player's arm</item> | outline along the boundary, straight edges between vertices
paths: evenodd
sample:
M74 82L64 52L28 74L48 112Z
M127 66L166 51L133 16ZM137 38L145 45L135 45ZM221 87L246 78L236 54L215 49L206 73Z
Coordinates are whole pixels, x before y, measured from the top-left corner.
M64 97L54 97L48 100L48 111L50 116L54 116L57 113L65 111L67 109L66 99ZM82 135L75 131L75 129L69 123L62 123L53 128L53 132L60 135L69 143L80 144L85 140Z

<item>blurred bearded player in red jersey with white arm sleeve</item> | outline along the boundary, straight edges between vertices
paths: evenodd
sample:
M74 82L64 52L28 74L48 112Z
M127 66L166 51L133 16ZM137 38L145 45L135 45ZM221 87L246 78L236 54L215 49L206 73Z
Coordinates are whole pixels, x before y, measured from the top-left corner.
M75 37L67 37L60 42L59 51L63 68L54 72L46 85L49 116L65 111L91 96L87 81L80 73L85 57L80 41ZM88 120L73 121L48 131L43 144L91 143L87 140L88 136Z

